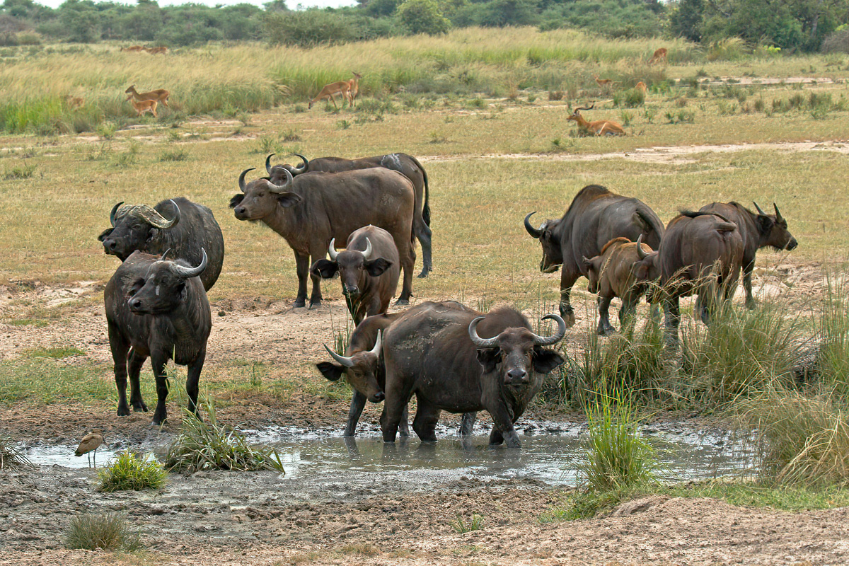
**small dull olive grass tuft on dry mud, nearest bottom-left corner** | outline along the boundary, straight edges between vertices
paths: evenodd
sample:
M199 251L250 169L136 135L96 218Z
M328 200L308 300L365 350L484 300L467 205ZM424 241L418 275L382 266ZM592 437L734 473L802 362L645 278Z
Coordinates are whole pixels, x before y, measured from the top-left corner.
M126 513L86 513L70 520L65 548L133 552L141 546L138 533L130 530Z

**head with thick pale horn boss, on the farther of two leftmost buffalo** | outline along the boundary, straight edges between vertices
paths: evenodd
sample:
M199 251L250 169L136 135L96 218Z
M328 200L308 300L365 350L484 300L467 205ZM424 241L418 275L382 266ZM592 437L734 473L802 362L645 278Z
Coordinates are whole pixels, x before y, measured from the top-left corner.
M145 249L157 231L175 227L180 221L180 209L173 200L170 202L173 210L171 220L148 205L124 205L121 202L113 206L109 216L112 227L98 236L104 244L104 251L125 261L132 252Z

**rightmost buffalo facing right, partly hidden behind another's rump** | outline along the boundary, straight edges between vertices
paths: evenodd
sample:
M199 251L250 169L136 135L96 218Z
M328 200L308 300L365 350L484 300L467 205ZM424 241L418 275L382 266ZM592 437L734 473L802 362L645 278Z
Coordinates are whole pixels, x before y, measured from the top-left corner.
M699 212L712 212L728 218L737 225L743 238L743 289L745 304L755 307L755 298L751 294L751 272L755 269L755 254L758 249L769 246L775 250L796 249L799 244L793 234L787 230L787 221L781 216L779 207L773 203L775 214L767 214L757 203L757 212L745 208L739 203L711 203L702 206Z

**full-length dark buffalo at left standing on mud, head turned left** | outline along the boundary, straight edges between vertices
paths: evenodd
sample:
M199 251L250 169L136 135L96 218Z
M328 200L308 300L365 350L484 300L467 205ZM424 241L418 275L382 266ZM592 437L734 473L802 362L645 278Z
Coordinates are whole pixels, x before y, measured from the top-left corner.
M150 356L158 397L154 424L166 419L168 383L165 368L168 360L188 366L188 410L198 414L198 380L212 328L210 304L199 277L208 266L205 250L200 250L201 261L197 267L190 267L183 260L167 261L167 253L157 257L133 252L118 266L104 292L109 342L115 361L118 416L130 414L127 373L130 375L132 409L148 410L142 400L138 373Z

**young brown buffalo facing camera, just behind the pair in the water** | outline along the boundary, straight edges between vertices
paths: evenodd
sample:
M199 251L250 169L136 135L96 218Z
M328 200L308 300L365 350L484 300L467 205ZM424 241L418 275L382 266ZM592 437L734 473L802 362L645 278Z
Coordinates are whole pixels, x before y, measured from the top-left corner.
M312 275L329 279L339 273L342 294L354 324L363 318L385 312L398 289L398 249L390 233L365 226L351 233L346 249L337 252L330 240L329 260L312 264Z

